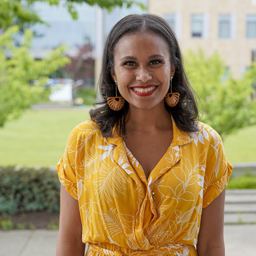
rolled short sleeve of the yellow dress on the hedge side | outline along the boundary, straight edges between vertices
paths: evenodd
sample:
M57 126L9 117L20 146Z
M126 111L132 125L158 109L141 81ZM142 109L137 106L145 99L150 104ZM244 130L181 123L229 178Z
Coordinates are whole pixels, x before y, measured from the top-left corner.
M76 128L70 133L63 157L59 160L56 170L61 184L67 192L78 200L76 180Z

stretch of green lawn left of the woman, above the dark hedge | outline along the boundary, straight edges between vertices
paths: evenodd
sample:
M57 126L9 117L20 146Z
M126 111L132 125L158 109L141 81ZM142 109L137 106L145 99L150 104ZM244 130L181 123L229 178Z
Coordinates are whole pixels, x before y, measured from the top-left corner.
M0 166L55 166L71 130L89 118L81 110L28 110L0 128Z

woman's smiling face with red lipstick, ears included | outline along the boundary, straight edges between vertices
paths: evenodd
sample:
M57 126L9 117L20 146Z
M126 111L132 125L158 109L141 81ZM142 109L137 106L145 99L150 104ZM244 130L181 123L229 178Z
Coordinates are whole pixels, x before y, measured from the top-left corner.
M117 42L111 75L130 108L163 107L174 73L169 45L161 35L137 32Z

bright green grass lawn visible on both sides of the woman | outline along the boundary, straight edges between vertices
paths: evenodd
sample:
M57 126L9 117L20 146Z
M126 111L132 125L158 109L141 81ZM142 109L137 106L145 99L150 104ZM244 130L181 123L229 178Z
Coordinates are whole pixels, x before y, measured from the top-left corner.
M55 166L70 131L88 118L82 108L26 111L0 128L0 166ZM231 163L256 162L256 126L228 136L224 147Z

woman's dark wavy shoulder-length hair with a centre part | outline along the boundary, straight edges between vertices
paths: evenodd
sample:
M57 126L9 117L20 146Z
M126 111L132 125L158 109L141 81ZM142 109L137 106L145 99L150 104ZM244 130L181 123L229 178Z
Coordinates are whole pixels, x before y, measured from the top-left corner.
M180 93L180 99L175 107L165 107L175 121L177 127L183 131L196 131L196 121L198 119L198 108L192 88L186 77L183 67L180 47L169 24L162 17L152 14L128 15L111 29L105 43L102 58L102 72L99 77L99 92L101 101L94 103L95 109L90 110L90 117L95 121L104 137L111 137L113 128L116 125L116 132L119 136L125 136L125 114L129 109L129 103L125 101L124 107L120 111L113 111L109 108L108 97L115 96L115 82L111 76L114 67L114 51L119 39L127 34L137 32L154 32L162 35L169 45L170 60L175 67L175 75L172 79L172 89ZM118 95L120 96L120 95Z

